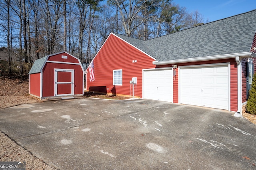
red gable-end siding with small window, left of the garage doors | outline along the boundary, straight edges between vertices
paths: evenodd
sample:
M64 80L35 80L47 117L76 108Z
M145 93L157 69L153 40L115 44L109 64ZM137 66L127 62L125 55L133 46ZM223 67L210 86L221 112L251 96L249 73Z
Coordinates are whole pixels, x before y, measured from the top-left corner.
M137 62L133 63L133 60L137 60ZM132 95L130 80L132 77L137 77L137 84L134 84L134 96L142 98L142 69L155 68L152 61L154 59L142 51L110 34L94 58L95 81L90 82L90 73L87 70L87 89ZM117 69L122 69L122 86L113 85L113 70Z

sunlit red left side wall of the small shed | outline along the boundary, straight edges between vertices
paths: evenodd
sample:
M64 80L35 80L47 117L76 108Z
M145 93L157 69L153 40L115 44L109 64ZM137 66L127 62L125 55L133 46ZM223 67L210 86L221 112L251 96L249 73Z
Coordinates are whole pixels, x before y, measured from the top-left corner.
M40 84L41 84L40 73L30 74L29 79L30 79L29 93L40 97Z

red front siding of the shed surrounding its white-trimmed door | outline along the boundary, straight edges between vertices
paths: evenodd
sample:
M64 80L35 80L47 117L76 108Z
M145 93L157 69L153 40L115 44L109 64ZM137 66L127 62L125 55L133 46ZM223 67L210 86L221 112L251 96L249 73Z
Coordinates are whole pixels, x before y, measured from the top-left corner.
M54 69L74 69L74 95L83 94L83 71L80 65L47 63L43 69L43 96L54 96Z

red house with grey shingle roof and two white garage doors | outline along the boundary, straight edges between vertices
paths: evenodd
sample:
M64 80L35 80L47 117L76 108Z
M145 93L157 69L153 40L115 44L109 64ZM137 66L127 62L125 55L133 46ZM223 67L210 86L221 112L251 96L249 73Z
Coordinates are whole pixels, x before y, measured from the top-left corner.
M86 89L240 113L256 71L255 31L253 10L147 41L111 33Z

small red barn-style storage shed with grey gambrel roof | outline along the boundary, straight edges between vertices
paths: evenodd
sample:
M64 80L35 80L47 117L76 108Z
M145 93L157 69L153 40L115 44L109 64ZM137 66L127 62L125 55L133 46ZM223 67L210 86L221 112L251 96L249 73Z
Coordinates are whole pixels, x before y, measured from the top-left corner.
M41 100L83 96L80 60L65 51L37 59L29 72L29 93Z

